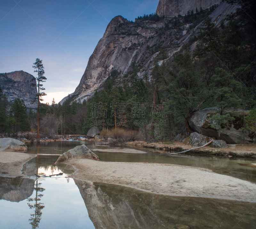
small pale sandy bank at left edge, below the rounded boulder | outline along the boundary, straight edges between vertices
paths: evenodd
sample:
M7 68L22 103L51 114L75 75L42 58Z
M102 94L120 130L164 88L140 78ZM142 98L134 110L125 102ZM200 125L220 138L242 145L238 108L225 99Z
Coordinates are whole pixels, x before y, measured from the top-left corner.
M0 176L26 177L21 174L22 165L33 157L36 157L36 155L17 152L0 152Z

